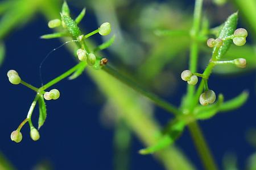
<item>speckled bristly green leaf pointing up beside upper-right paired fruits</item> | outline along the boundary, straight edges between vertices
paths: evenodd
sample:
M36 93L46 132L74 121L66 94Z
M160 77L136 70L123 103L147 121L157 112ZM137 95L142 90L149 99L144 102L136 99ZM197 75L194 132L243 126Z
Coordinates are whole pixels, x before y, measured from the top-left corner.
M229 18L224 23L223 28L220 31L219 38L225 38L226 36L232 35L237 27L238 13L234 13L229 16ZM223 45L218 50L217 59L220 59L225 53L228 51L230 45L232 44L232 40L224 41ZM215 47L216 48L216 47Z

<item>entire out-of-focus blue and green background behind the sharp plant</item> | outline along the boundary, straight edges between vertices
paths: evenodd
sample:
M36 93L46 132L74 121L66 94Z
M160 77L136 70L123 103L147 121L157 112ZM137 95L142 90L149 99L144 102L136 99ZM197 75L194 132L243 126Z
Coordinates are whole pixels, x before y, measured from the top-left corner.
M195 1L67 2L71 16L77 16L86 7L80 27L87 33L103 22L112 24L115 43L102 53L111 65L174 105L180 105L186 93L180 73L188 68L188 33ZM108 74L95 71L52 87L60 90L61 97L46 102L48 115L40 128L40 140L30 139L26 125L22 128L22 142L11 141L10 134L26 117L35 93L22 85L11 85L6 73L15 69L24 81L40 86L40 63L63 42L39 37L52 32L47 22L59 17L61 3L58 0L0 1L0 170L203 169L187 130L175 146L159 155L139 155L138 150L153 142L155 131L166 125L172 115ZM255 0L204 1L204 31L219 26L238 10L238 27L249 32L246 45L232 45L225 56L226 59L243 57L248 67L218 67L208 82L225 99L249 91L247 102L235 111L199 122L220 169L256 169L255 7ZM162 36L158 31L162 29L185 33ZM96 35L91 40L100 44L112 35ZM199 72L204 70L211 55L206 40L200 44ZM72 51L65 47L58 49L42 66L43 81L52 80L75 64ZM36 124L37 107L32 119ZM174 160L184 167L175 168Z

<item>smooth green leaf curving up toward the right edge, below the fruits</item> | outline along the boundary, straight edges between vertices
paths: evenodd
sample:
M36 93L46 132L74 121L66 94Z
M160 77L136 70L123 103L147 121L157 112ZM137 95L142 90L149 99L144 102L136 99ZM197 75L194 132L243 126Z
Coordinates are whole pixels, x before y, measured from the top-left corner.
M220 106L220 111L230 111L230 110L234 110L237 109L239 107L241 107L247 100L247 98L249 97L249 93L248 92L242 92L239 96L230 99L227 102L224 102L221 106Z

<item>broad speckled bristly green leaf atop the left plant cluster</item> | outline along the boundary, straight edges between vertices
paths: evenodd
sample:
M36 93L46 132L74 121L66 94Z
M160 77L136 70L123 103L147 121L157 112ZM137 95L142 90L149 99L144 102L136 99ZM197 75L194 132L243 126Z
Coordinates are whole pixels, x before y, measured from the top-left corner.
M71 35L75 36L76 38L81 35L79 27L77 26L77 23L73 19L63 14L61 14L61 19L67 26L68 31Z

